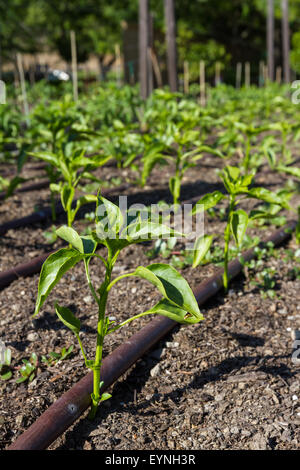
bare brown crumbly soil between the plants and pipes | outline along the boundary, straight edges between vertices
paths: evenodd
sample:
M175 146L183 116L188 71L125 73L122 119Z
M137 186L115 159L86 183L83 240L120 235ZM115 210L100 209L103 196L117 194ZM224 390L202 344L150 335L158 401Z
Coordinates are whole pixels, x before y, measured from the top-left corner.
M187 173L182 200L221 189L215 168L219 160L207 158ZM119 175L114 168L102 176ZM168 170L170 171L170 170ZM123 171L123 181L132 178ZM132 185L129 203L168 200L168 174L156 169L144 190ZM286 177L267 168L258 184L271 190L282 187ZM128 191L129 192L129 191ZM115 190L114 194L118 194ZM126 194L126 193L124 193ZM113 199L113 198L112 198ZM47 190L15 195L1 203L0 223L30 214L35 206L49 203ZM299 204L298 200L293 205ZM63 217L58 223L63 223ZM207 221L206 231L222 233L224 222ZM47 245L43 232L51 221L11 230L1 239L1 269L27 261L61 246ZM83 220L77 227L86 226ZM274 230L254 231L265 238ZM151 245L130 247L121 254L116 271L132 271L149 264ZM177 249L177 248L176 248ZM86 413L51 449L297 449L300 444L300 370L292 361L294 330L300 329L299 264L292 256L295 238L264 260L263 268L274 268L276 286L269 298L254 285L246 271L220 294L206 303L205 320L190 327L176 327L164 341L145 355L112 387L94 422ZM289 250L289 251L287 251ZM159 259L155 259L157 262ZM91 278L99 285L101 262L91 262ZM166 262L160 259L161 262ZM153 262L153 261L152 261ZM216 268L206 265L182 270L195 288ZM13 377L1 381L0 439L6 448L27 429L51 403L82 378L86 370L79 347L54 313L54 301L72 308L82 323L82 341L92 356L95 346L97 309L85 282L83 265L63 277L35 319L32 314L39 276L21 278L0 292L0 338L12 350ZM255 278L254 278L255 279ZM108 312L125 320L146 310L159 295L146 282L129 278L111 292ZM145 325L139 319L106 339L105 355ZM17 367L35 352L39 359L74 344L72 355L55 366L41 361L31 383L16 384Z

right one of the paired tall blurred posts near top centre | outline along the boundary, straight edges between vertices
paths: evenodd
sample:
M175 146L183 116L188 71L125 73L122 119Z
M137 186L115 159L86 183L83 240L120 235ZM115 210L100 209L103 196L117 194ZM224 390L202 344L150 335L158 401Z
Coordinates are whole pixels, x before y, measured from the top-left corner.
M178 91L177 79L177 46L176 46L176 20L174 0L164 0L165 19L167 30L167 58L169 86L172 92Z

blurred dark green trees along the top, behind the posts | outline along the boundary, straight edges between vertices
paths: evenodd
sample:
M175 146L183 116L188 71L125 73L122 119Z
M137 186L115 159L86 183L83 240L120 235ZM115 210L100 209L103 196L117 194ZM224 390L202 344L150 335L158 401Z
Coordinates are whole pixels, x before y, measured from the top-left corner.
M179 65L192 64L192 78L203 59L208 69L216 60L224 73L238 61L258 64L266 60L267 0L175 0ZM281 63L281 10L275 0L276 62ZM292 66L300 71L300 0L290 0ZM155 28L164 32L163 0L150 0ZM138 0L0 0L0 47L2 60L15 60L15 53L55 50L70 60L69 32L76 31L79 61L105 54L122 43L122 27L137 23ZM156 44L164 53L164 44ZM193 65L195 64L195 65ZM258 67L258 65L257 65ZM255 70L255 67L254 67ZM197 75L196 75L197 76ZM226 78L226 77L225 77Z

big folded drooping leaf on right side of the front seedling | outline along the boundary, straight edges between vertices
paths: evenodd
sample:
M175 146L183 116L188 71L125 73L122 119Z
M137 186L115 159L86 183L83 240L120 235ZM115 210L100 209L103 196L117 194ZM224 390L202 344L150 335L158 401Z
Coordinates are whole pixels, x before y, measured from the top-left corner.
M175 268L159 263L151 264L146 268L139 266L135 275L153 284L173 305L201 319L198 303L190 286Z

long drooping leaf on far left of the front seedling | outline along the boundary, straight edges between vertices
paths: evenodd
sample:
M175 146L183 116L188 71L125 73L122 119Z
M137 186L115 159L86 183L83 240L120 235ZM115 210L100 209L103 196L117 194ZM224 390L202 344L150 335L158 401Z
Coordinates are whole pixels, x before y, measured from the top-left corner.
M62 248L46 259L41 270L34 315L40 311L48 295L62 276L83 258L84 256L73 248Z

